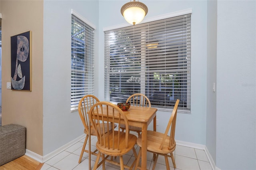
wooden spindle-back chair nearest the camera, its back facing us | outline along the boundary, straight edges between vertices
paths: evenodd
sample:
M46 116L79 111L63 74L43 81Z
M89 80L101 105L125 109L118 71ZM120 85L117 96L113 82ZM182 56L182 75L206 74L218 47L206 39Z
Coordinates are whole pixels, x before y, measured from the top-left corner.
M104 114L104 117L102 116ZM129 133L128 119L125 113L116 105L109 102L98 102L92 106L89 112L90 123L97 129L98 142L96 148L98 149L98 156L94 164L94 170L102 164L102 169L105 170L105 162L110 162L115 165L119 165L121 170L124 168L132 169L136 163L136 159L132 163L132 166L124 165L123 155L133 150L135 158L137 158L136 150L134 148L137 137ZM102 121L104 120L104 121ZM126 132L120 131L120 126L114 129L113 124L124 123L126 125ZM103 123L103 127L112 126L111 130L99 128L99 124ZM103 131L108 131L102 133ZM105 156L106 155L106 156ZM111 156L110 159L109 156ZM113 160L113 157L119 156L120 163ZM99 163L100 157L102 161Z

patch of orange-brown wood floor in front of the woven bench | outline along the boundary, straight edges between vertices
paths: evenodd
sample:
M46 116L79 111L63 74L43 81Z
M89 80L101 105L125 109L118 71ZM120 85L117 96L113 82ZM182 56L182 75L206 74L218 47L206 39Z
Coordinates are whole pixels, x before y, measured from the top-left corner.
M23 155L11 162L3 164L0 166L0 170L40 170L42 166L43 163Z

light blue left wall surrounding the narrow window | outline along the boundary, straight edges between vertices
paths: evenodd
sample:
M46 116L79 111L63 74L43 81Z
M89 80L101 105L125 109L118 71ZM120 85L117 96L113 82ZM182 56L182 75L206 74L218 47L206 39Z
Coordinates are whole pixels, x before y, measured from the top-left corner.
M44 156L84 133L78 112L70 113L71 9L98 28L98 1L44 1ZM98 30L95 40L98 49Z

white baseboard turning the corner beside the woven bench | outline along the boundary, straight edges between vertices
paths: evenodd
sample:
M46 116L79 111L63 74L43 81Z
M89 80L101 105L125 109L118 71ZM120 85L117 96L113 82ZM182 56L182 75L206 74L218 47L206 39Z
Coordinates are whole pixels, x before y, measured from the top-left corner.
M26 149L26 153L25 155L26 156L29 156L30 158L40 162L40 163L43 163L43 162L46 162L47 160L50 160L51 158L53 158L54 156L56 156L57 154L59 154L60 152L66 150L66 148L72 146L73 144L75 144L76 142L79 142L80 140L82 140L82 138L84 138L85 135L82 134L81 136L79 136L78 138L68 142L67 144L61 146L60 148L54 150L53 152L50 152L49 154L45 155L45 156L41 156L41 155L38 155L28 149Z

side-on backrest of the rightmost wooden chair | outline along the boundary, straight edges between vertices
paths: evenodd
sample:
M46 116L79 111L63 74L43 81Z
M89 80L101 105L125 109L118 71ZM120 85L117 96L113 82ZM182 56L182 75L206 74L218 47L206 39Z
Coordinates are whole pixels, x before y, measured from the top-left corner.
M163 148L164 146L164 142L166 140L167 134L170 130L170 141L169 141L169 146L168 148L171 150L174 146L175 146L175 140L174 140L174 136L175 136L175 126L176 126L176 117L177 117L177 109L178 109L178 105L179 105L180 100L177 99L176 103L174 105L173 111L172 111L172 115L169 119L168 125L166 127L165 133L164 133L164 137L162 139L162 142L160 144L160 149ZM172 125L172 126L171 126Z

